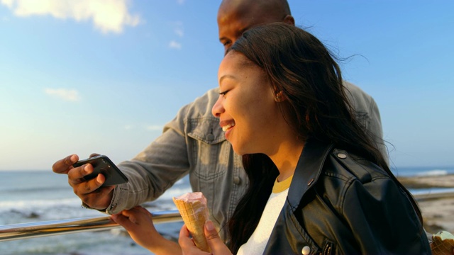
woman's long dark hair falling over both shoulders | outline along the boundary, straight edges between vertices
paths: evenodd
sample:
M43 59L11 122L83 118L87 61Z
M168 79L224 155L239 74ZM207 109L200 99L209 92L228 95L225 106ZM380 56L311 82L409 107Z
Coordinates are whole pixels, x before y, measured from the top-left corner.
M333 143L382 167L411 198L422 222L416 201L389 170L375 137L355 119L341 70L314 35L286 23L256 26L246 30L227 54L230 52L245 55L265 71L276 93L282 91L286 100L279 106L287 123L294 127L296 139ZM243 155L243 166L250 185L228 222L234 254L257 227L279 175L265 154Z

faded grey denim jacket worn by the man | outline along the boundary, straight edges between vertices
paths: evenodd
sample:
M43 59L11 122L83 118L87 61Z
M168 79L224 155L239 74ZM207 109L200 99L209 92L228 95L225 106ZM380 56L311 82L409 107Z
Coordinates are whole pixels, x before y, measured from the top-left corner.
M360 123L381 138L380 113L374 99L353 84L344 85ZM211 114L217 99L218 89L196 98L179 110L162 135L143 152L118 164L129 182L116 186L107 213L155 200L189 174L192 190L201 191L208 200L211 220L218 227L226 223L248 186L248 177L241 157L233 152L218 118ZM384 146L382 149L385 152Z

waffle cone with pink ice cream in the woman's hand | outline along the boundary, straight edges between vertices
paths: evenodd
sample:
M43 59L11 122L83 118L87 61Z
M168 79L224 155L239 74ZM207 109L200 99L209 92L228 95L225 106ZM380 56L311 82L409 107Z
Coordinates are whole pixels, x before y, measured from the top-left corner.
M211 252L204 233L205 222L209 219L204 195L201 192L194 192L172 199L196 246L202 251Z

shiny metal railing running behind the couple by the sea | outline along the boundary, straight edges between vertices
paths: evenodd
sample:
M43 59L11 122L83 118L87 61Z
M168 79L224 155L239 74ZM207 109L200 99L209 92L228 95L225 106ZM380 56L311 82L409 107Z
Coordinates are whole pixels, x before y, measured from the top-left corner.
M413 195L416 200L454 197L454 188L446 188L440 191L415 192ZM153 222L155 224L182 221L182 217L179 215L177 210L152 212L152 215ZM109 216L19 223L0 226L0 242L15 239L28 239L33 237L45 237L56 234L114 229L117 227L121 226L112 221Z

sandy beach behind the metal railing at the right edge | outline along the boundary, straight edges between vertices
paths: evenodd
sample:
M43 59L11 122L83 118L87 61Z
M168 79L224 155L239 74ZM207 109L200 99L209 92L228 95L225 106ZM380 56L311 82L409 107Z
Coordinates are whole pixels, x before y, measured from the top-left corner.
M454 175L398 178L406 188L454 188ZM454 196L418 199L427 232L445 230L454 234Z

